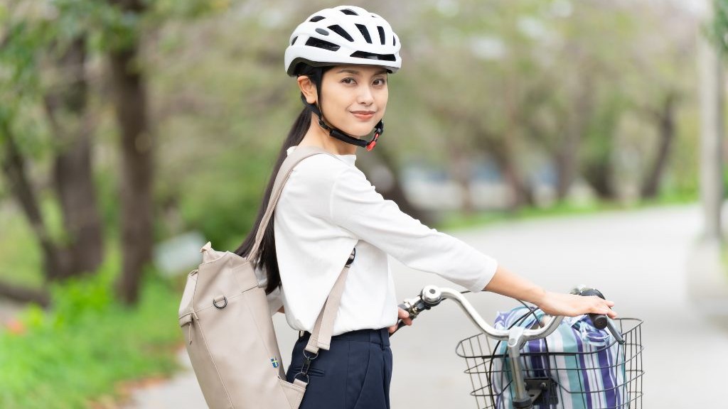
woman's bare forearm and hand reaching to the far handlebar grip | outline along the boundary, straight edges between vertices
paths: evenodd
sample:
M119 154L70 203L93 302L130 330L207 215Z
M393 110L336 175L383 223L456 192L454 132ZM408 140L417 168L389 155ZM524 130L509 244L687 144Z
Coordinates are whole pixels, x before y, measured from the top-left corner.
M580 314L606 314L616 318L617 313L610 307L612 301L603 300L596 296L583 297L581 295L551 293L543 290L529 280L513 274L502 266L498 266L496 274L483 288L483 291L506 295L539 306L546 314L566 315L574 317Z

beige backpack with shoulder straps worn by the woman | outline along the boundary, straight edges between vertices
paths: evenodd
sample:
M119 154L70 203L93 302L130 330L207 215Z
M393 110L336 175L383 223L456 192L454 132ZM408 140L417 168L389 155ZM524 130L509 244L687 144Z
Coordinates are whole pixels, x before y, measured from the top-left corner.
M251 255L261 245L293 167L309 156L325 153L320 148L298 147L285 159ZM258 287L253 263L234 253L215 251L209 242L201 251L202 263L187 278L179 324L207 405L212 409L298 409L306 382L285 380L265 290ZM317 319L306 346L309 352L329 349L349 263Z

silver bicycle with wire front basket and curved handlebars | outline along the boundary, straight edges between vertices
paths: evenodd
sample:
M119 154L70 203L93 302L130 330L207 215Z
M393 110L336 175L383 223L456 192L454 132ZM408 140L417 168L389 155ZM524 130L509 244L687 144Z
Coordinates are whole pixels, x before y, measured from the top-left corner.
M470 375L470 394L479 409L641 409L641 319L612 320L605 315L589 314L593 327L606 327L611 338L605 336L604 345L596 348L559 351L549 349L547 337L559 328L564 317L550 317L542 323L540 310L523 303L527 311L520 319L508 327L494 328L480 317L463 293L429 285L418 296L405 300L400 308L414 319L422 311L450 299L478 327L479 334L459 341L456 354L466 361L464 373ZM585 287L572 293L604 298L598 290ZM400 322L397 329L403 325ZM497 341L495 345L491 345L491 339Z

